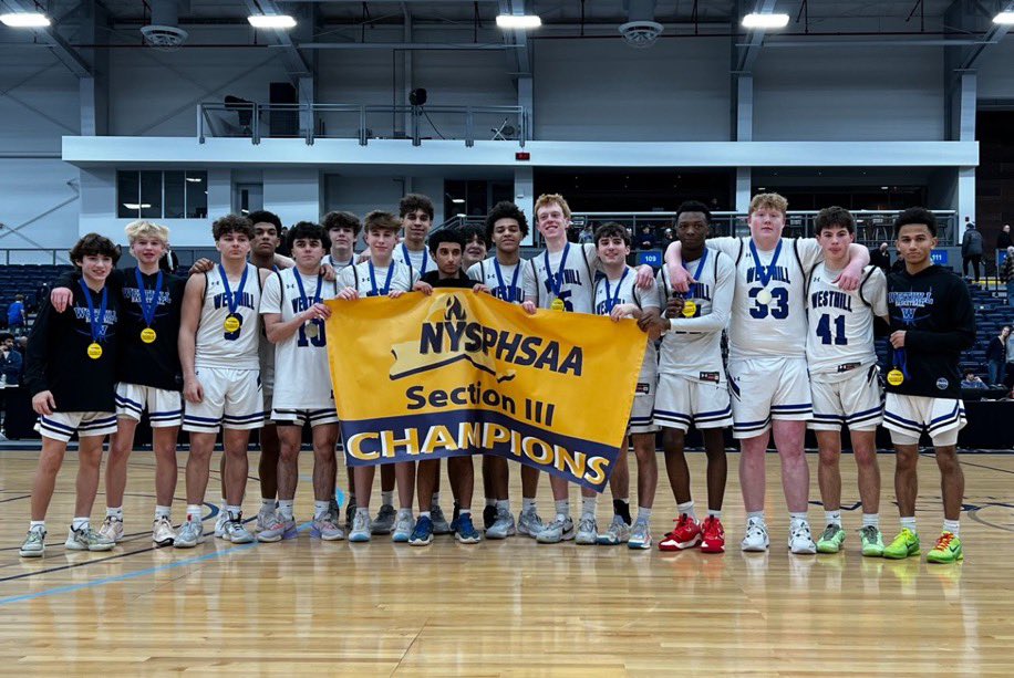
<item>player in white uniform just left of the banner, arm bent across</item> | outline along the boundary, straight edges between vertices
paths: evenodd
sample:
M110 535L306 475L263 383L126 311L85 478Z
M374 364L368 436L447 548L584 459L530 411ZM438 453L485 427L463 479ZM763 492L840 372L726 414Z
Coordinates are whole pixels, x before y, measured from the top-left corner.
M276 344L279 379L271 418L278 424L281 456L278 466L278 511L268 529L258 533L261 542L296 538L292 503L299 478L298 459L303 426L313 435L313 523L311 536L324 541L344 539L331 514L334 482L334 444L338 413L331 390L324 321L331 310L323 303L338 295L335 283L324 281L320 261L328 251L323 227L300 221L289 230L289 251L294 269L272 273L260 303L268 341Z

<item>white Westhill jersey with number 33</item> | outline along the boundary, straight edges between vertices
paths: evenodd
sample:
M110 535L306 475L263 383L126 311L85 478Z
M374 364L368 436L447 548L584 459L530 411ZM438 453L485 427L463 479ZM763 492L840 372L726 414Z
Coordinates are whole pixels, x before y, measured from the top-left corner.
M728 324L728 357L806 356L806 273L821 257L813 238L783 238L782 249L751 252L751 238L712 238L707 247L736 262L736 292ZM775 252L778 260L773 263ZM759 264L759 265L758 265ZM767 284L759 271L773 267ZM765 296L770 301L764 303Z

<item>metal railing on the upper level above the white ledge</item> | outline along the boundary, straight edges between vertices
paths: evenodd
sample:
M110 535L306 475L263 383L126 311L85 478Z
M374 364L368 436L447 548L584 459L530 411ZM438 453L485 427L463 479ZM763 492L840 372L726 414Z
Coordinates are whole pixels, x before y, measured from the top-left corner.
M197 104L197 140L207 137L315 139L476 139L516 142L529 138L524 106L393 106L365 104L258 104L204 102Z

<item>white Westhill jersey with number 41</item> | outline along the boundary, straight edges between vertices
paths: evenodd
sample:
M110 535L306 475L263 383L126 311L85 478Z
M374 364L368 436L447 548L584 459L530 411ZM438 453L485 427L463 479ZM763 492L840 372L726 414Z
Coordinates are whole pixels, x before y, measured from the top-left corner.
M810 273L806 294L810 374L847 376L877 362L873 315L888 314L887 277L877 267L866 267L859 289L845 292L831 283L839 273L828 271L822 261Z

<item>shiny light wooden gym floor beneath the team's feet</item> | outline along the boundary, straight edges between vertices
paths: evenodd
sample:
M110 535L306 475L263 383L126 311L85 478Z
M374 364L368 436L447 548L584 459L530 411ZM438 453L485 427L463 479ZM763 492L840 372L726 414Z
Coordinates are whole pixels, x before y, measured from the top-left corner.
M256 457L256 455L251 455ZM699 505L704 456L689 456ZM73 504L69 453L48 517L46 556L22 560L35 453L0 453L0 670L19 675L1003 675L1014 672L1010 563L1014 561L1014 456L965 455L966 560L862 559L855 465L842 460L847 552L790 556L778 463L768 457L766 554L738 550L743 504L730 455L728 551L632 552L538 545L527 538L474 546L437 538L427 549L298 540L194 550L153 549L154 459L131 460L128 539L111 553L63 549ZM185 456L180 455L180 467ZM816 457L809 456L816 493ZM662 461L660 459L660 466ZM881 455L891 488L893 458ZM309 473L303 456L301 473ZM213 468L217 469L217 459ZM257 468L251 459L251 469ZM516 467L515 467L516 468ZM935 463L923 457L923 551L940 531ZM633 474L633 473L632 473ZM217 478L217 473L216 473ZM632 478L633 481L633 478ZM340 483L345 482L344 470ZM519 488L513 473L513 509ZM451 510L444 484L445 511ZM632 482L633 484L633 482ZM312 503L301 481L297 515ZM247 514L257 510L256 480ZM480 486L479 486L480 487ZM635 486L634 486L635 487ZM183 493L180 472L177 497ZM209 497L217 496L216 480ZM480 492L479 492L480 493ZM573 512L579 511L577 490ZM540 509L550 514L549 483ZM379 499L379 497L376 497ZM93 517L101 521L100 490ZM482 501L476 502L480 509ZM177 499L174 518L184 514ZM372 507L376 511L376 505ZM819 532L822 509L810 512ZM652 518L658 542L674 502L664 472ZM892 491L882 528L897 532ZM209 507L208 515L213 513ZM609 520L607 493L600 525ZM206 522L210 531L213 519Z

